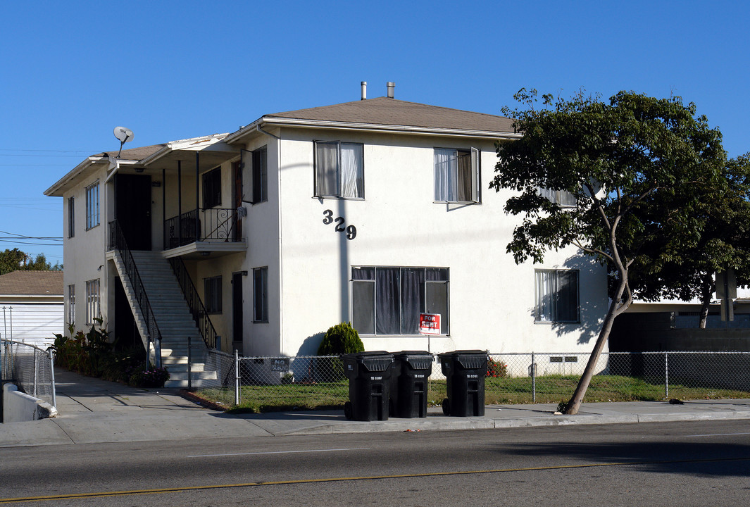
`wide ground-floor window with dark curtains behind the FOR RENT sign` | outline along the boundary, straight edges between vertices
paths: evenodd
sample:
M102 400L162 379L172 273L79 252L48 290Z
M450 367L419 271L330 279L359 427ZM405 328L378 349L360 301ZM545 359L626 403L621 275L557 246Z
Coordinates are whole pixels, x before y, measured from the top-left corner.
M419 335L419 314L448 326L447 268L352 268L352 323L365 335Z

